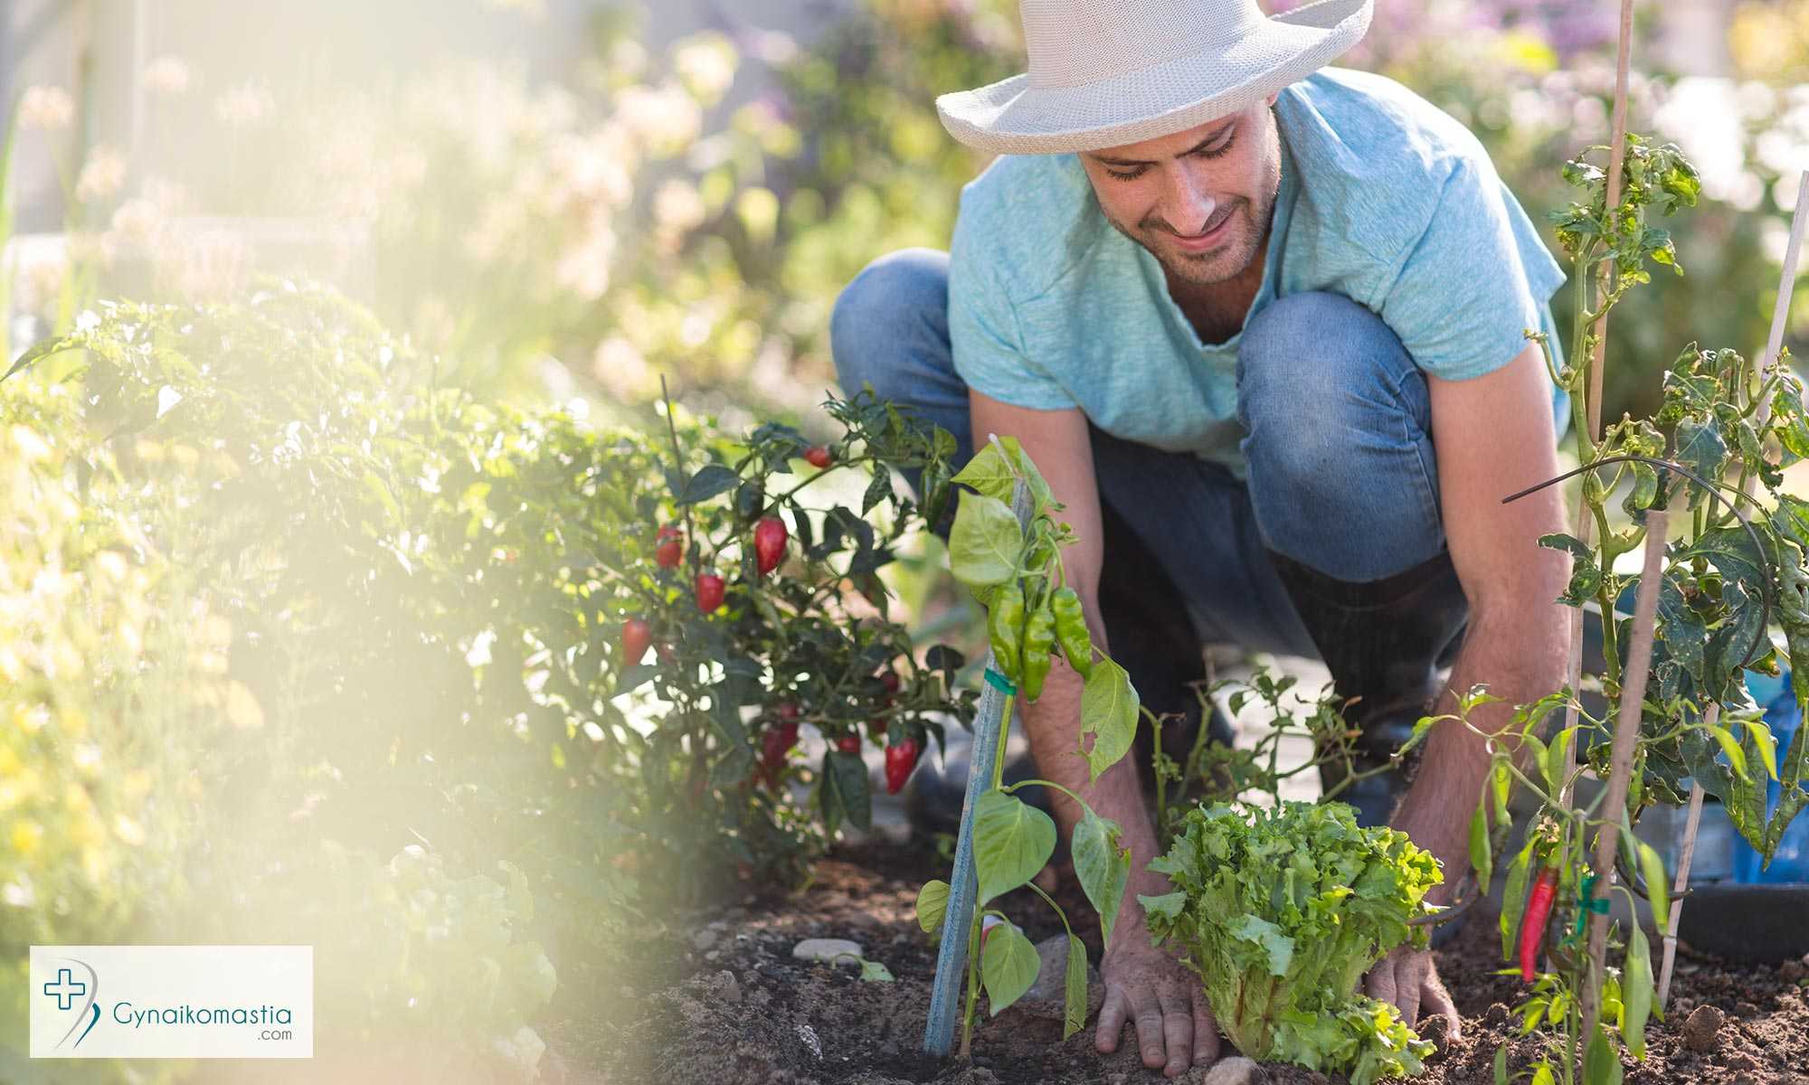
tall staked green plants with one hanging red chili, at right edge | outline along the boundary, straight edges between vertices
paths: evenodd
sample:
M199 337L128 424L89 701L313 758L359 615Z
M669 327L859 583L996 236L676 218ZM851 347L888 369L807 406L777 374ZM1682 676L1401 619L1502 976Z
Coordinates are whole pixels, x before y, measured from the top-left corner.
M1657 416L1623 418L1599 441L1594 438L1588 420L1601 385L1590 382L1585 360L1601 345L1608 311L1628 289L1650 280L1650 264L1682 275L1670 235L1650 226L1648 215L1693 206L1699 192L1695 168L1673 145L1628 134L1624 186L1610 208L1612 170L1590 161L1605 150L1610 148L1592 146L1565 165L1565 179L1583 190L1583 199L1552 215L1576 268L1574 362L1559 369L1545 338L1527 335L1547 347L1552 380L1570 394L1583 465L1570 474L1583 476L1583 519L1592 528L1581 532L1592 541L1556 533L1539 544L1572 557L1570 582L1558 602L1572 608L1594 602L1603 613L1599 684L1610 703L1623 702L1628 705L1623 711L1635 712L1628 718L1637 720L1630 776L1617 808L1606 808L1614 787L1572 805L1585 769L1612 779L1614 722L1606 712L1592 716L1576 689L1565 687L1518 707L1512 723L1489 736L1492 770L1471 821L1471 861L1487 884L1509 823L1511 788L1518 785L1538 801L1532 828L1507 866L1500 919L1503 957L1518 955L1521 976L1534 984L1521 1005L1523 1031L1543 1022L1554 1034L1552 1052L1527 1071L1536 1085L1574 1081L1579 1052L1588 1085L1619 1081L1615 1038L1634 1058L1644 1054L1655 993L1650 942L1637 922L1630 924L1614 975L1601 964L1603 942L1590 946L1586 937L1592 919L1605 920L1612 892L1626 895L1630 904L1634 893L1644 893L1657 922L1668 919L1664 864L1634 835L1641 812L1655 803L1679 805L1691 783L1700 785L1724 803L1733 826L1769 861L1784 828L1809 801L1802 787L1809 765L1804 731L1780 760L1744 682L1747 669L1778 675L1782 655L1791 664L1798 700L1809 698L1804 566L1809 503L1780 492L1782 467L1809 456L1802 382L1789 371L1787 353L1771 365L1755 365L1731 349L1691 344L1664 374ZM1610 519L1610 501L1621 492L1626 519L1617 524ZM1672 515L1688 523L1675 539L1664 532ZM1648 532L1657 537L1648 541ZM1657 599L1655 620L1646 629L1617 609L1646 575L1621 571L1617 559L1641 546L1662 548L1662 553L1648 550ZM1773 626L1782 629L1782 653L1771 640ZM1650 667L1634 655L1641 633L1652 640ZM1630 680L1639 682L1641 673L1646 675L1641 689L1623 689ZM1473 691L1453 718L1469 725L1469 711L1487 700ZM1563 725L1543 740L1554 714ZM1431 723L1422 720L1422 731ZM1784 788L1769 817L1767 779ZM1603 884L1590 870L1592 834L1608 834L1603 846L1617 852L1624 884ZM1552 937L1549 919L1556 919ZM1536 967L1541 949L1549 971ZM1509 1078L1501 1051L1496 1080Z

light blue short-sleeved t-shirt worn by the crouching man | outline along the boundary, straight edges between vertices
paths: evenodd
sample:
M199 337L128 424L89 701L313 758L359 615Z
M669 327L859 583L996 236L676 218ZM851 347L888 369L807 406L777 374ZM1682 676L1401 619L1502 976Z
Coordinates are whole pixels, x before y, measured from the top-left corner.
M1474 134L1350 69L1286 87L1275 119L1281 190L1246 324L1277 297L1331 291L1382 316L1440 378L1507 365L1529 327L1561 365L1549 298L1565 273ZM962 190L948 320L968 387L1080 407L1109 434L1243 476L1243 333L1201 344L1156 257L1105 221L1076 156L1000 157ZM1561 391L1552 407L1561 423Z

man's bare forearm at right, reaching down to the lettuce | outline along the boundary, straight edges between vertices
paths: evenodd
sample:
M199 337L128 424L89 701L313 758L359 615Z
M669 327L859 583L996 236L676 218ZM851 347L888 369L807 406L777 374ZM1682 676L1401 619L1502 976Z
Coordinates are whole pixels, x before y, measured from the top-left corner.
M1456 714L1456 691L1485 684L1501 702L1476 707L1469 722L1478 731L1496 734L1512 722L1514 705L1536 702L1563 685L1568 649L1570 622L1559 606L1478 613L1435 714ZM1445 902L1460 872L1469 868L1469 812L1482 797L1487 778L1489 745L1482 734L1471 732L1458 720L1444 720L1433 727L1420 756L1420 772L1402 797L1393 823L1445 864L1445 884L1435 890L1435 902Z

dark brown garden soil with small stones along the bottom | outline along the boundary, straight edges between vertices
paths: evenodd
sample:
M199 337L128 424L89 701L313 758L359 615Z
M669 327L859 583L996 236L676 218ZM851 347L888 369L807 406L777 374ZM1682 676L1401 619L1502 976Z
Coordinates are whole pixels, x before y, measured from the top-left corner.
M984 1016L971 1061L923 1054L923 1031L935 975L935 948L917 928L917 886L946 863L895 844L834 852L812 882L783 899L753 901L698 917L689 937L658 939L610 984L608 1009L552 1020L543 1029L546 1080L570 1085L733 1083L733 1085L1154 1085L1131 1031L1114 1054L1093 1047L1093 1027L1062 1040L1053 1004ZM1098 920L1066 881L1056 899L1076 931L1089 931L1098 962ZM1042 901L1018 892L1002 904L1046 939L1060 922ZM1809 917L1805 917L1809 919ZM852 939L885 964L895 982L861 982L854 967L792 958L801 939ZM1518 1038L1509 1007L1518 976L1494 975L1500 933L1492 917L1473 915L1438 951L1438 967L1463 1014L1462 1036L1427 1063L1418 1081L1487 1085L1492 1060L1509 1045L1511 1071L1538 1054L1538 1040ZM1653 942L1657 953L1657 942ZM1648 1029L1644 1061L1626 1063L1630 1085L1738 1083L1809 1085L1809 967L1728 966L1679 953L1668 1020ZM561 987L566 987L561 976ZM595 993L592 993L595 995ZM1100 989L1094 982L1093 1009ZM1089 1016L1089 1022L1093 1018ZM959 1043L959 1034L957 1034ZM1210 1085L1219 1085L1219 1074ZM1239 1081L1326 1085L1344 1078L1263 1065ZM1527 1076L1520 1078L1521 1081ZM1207 1085L1205 1071L1179 1081Z

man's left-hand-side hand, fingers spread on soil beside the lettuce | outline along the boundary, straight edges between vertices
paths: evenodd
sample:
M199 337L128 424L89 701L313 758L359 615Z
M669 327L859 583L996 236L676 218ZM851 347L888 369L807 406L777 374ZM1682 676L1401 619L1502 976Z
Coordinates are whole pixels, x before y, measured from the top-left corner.
M1141 915L1136 919L1136 929L1123 935L1113 931L1118 937L1100 966L1105 1004L1094 1043L1100 1051L1118 1051L1120 1033L1129 1022L1136 1029L1143 1065L1178 1078L1189 1065L1217 1061L1219 1025L1212 1020L1199 976L1174 955L1151 946L1141 931Z

